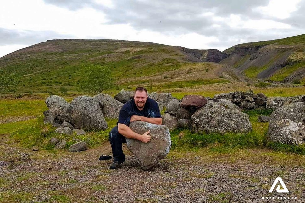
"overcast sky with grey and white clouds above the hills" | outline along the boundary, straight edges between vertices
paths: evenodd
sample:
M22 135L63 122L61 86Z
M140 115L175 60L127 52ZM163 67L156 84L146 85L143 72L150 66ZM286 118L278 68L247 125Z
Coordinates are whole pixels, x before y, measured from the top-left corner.
M3 0L0 57L48 39L121 39L193 49L305 34L305 0Z

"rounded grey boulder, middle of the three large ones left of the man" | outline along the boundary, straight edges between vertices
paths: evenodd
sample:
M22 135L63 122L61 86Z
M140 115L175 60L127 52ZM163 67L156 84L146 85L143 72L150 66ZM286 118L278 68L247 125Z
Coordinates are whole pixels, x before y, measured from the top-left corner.
M79 96L72 100L73 122L84 130L105 130L108 125L97 98Z

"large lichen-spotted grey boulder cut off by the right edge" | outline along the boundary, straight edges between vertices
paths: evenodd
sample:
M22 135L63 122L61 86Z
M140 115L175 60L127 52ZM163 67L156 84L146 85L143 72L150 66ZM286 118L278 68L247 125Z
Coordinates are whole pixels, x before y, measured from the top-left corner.
M270 117L269 140L285 144L305 143L305 102L280 107Z

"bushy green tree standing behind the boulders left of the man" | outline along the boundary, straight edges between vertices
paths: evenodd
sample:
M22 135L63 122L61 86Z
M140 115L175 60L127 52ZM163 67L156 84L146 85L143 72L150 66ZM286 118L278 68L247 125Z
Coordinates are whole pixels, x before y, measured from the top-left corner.
M99 94L104 90L113 88L114 79L109 67L90 64L84 68L82 80L77 83L82 93Z

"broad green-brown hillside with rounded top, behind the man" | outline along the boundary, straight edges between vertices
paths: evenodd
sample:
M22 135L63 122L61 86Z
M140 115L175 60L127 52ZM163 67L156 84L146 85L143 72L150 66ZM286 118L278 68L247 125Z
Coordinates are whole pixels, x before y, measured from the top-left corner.
M117 89L141 85L150 91L224 82L253 82L241 71L217 64L226 54L148 42L48 40L0 58L0 68L21 80L20 92L75 90L83 66L107 65ZM203 62L212 61L212 62Z

